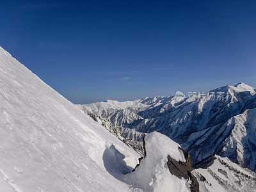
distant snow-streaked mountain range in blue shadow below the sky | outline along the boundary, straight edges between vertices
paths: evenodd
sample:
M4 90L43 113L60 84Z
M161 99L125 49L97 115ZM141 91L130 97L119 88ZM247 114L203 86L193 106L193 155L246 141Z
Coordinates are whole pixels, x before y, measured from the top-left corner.
M223 100L217 98L219 92L225 93ZM107 102L109 107L99 113L97 109L102 109L104 103L101 102L95 114L104 114L114 126L165 134L188 150L193 164L218 154L256 170L255 88L239 83L210 93L210 97L196 96L182 101L174 96L139 99L134 102L141 102L147 108L136 108L136 104L132 108L122 108L131 111L132 115L120 113L120 109L112 108L110 102ZM88 111L91 105L83 105L83 110Z

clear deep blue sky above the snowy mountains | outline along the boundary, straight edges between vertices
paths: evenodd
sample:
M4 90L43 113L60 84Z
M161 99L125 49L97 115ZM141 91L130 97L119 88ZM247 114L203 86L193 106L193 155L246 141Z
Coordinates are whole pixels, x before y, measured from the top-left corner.
M0 46L74 103L256 86L255 1L0 1Z

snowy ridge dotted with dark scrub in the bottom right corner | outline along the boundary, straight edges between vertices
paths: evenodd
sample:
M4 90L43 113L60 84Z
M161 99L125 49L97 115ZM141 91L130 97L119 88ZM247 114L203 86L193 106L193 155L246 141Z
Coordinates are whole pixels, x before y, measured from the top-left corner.
M213 158L212 158L213 159ZM193 170L200 191L255 191L256 173L241 168L227 157L215 156L207 168Z

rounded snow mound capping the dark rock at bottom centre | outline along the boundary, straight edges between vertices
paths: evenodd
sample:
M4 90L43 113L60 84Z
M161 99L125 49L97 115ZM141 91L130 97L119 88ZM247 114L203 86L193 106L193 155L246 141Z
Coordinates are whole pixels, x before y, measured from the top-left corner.
M159 132L151 132L145 136L145 147L147 156L134 172L127 175L132 186L143 191L190 191L189 181L172 175L167 166L167 156L186 161L178 143Z

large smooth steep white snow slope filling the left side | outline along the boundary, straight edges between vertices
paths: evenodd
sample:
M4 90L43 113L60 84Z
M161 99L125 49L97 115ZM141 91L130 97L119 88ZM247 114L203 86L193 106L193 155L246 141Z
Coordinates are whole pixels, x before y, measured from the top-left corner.
M0 86L0 191L129 190L108 154L125 170L140 156L2 48Z

